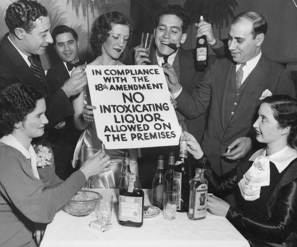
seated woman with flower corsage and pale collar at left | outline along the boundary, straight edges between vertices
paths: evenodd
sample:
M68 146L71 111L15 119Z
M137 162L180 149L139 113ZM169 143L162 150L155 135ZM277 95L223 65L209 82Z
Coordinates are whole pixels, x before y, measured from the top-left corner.
M34 88L13 84L0 93L0 246L37 246L36 226L52 221L86 180L110 169L99 151L62 181L49 166L45 147L36 153L32 139L49 122L44 96Z

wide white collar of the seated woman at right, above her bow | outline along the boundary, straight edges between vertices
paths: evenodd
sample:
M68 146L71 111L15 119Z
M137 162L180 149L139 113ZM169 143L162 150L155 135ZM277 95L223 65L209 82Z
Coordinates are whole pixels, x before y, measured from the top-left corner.
M254 161L255 158L260 155L266 155L266 148L256 151L253 155L251 155L249 160ZM285 148L268 155L268 157L269 161L273 162L279 173L281 173L294 159L297 158L297 150L286 146Z

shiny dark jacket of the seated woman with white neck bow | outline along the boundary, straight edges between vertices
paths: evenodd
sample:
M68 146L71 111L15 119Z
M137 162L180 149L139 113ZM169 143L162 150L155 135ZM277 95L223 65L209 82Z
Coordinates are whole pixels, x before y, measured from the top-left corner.
M238 183L252 165L249 158L254 151L247 153L236 168L222 177L214 173L205 155L196 160L195 165L206 169L205 177L208 184L215 188L214 193L220 196L235 193L241 203L246 203ZM249 240L251 246L297 246L297 159L281 174L263 206L256 207L252 212L231 206L227 212L226 218Z

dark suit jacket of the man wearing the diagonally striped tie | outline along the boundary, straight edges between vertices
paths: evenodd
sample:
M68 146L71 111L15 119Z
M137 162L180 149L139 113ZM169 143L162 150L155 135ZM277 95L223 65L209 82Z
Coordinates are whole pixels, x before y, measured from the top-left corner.
M5 34L0 43L0 90L13 83L23 83L46 93L46 116L51 127L72 115L74 111L64 91L59 88L49 94L47 85L39 82L7 36Z

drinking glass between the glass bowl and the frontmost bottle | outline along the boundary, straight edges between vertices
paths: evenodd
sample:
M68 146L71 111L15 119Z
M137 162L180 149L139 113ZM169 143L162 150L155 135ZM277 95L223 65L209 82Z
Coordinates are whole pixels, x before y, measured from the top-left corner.
M104 221L105 224L111 220L112 198L110 194L103 195L102 199L98 202L96 216L97 219Z

